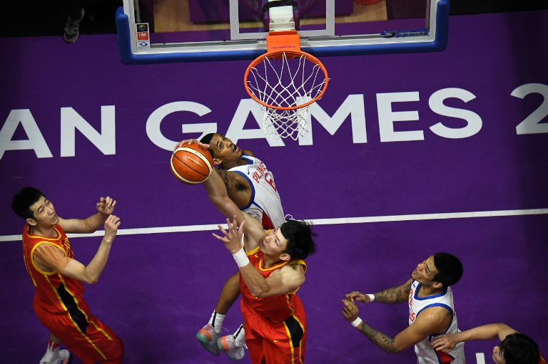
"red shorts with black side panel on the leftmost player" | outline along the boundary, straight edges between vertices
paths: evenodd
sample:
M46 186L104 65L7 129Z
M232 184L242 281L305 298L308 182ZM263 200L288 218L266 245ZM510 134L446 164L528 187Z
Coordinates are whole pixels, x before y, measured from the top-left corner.
M40 322L83 363L121 363L122 340L91 315L85 301L78 300L78 308L68 308L68 311L59 313L46 311L35 301L34 312Z

